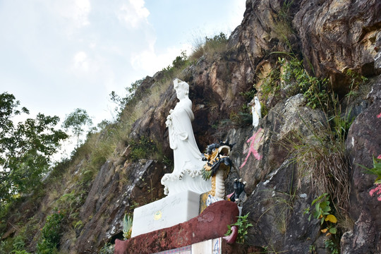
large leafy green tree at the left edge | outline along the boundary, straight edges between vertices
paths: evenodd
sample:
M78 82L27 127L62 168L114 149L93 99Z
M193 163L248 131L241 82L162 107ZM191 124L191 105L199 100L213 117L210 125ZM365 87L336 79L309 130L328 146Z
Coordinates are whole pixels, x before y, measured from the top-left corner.
M59 142L68 138L55 130L58 116L37 114L15 125L13 117L29 114L16 98L0 94L0 201L6 202L16 193L26 193L39 186L41 177L49 169L51 157L59 149Z

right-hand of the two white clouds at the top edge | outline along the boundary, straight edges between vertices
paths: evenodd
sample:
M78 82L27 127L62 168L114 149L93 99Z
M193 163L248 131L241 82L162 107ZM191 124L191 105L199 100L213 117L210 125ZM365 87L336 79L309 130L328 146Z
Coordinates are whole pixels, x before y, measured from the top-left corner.
M123 4L116 16L125 23L128 28L138 28L142 23L148 23L147 17L150 11L145 8L144 0L129 0L128 4Z

